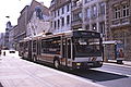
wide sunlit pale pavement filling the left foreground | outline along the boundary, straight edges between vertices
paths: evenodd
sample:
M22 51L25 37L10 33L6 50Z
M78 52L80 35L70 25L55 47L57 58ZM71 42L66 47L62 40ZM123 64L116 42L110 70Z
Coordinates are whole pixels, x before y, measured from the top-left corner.
M104 87L15 57L2 57L0 60L0 83L3 87Z

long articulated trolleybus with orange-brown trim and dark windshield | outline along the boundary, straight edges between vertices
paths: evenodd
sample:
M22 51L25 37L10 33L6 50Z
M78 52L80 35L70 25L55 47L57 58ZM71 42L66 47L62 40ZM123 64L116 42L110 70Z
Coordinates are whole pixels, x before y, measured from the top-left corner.
M96 32L70 30L26 38L20 41L20 53L23 58L50 63L57 69L91 69L103 65L103 44L100 34Z

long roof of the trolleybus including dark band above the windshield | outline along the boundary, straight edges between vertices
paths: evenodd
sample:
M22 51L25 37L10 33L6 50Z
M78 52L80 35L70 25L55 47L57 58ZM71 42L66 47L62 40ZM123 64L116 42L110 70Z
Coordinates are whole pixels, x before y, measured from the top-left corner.
M56 34L50 34L50 35L46 35L46 34L39 34L37 36L33 36L33 37L26 37L23 40L21 40L20 42L23 41L28 41L28 40L36 40L38 38L41 39L47 39L47 38L52 38L52 37L61 37L61 36L66 36L66 37L100 37L100 33L97 32L93 32L93 30L67 30L67 32L62 32L62 33L56 33Z

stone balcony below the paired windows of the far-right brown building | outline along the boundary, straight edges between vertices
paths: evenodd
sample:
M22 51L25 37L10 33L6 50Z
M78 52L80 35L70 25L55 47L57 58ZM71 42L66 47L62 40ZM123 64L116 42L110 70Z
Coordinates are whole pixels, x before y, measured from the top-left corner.
M127 25L130 25L130 24L131 24L130 16L120 17L120 18L111 21L111 27L121 27L121 26L127 26Z

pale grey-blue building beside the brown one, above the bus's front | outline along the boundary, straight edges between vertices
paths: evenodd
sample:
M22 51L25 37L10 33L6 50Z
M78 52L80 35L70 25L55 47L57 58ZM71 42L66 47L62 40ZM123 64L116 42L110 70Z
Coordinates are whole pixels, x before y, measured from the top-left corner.
M107 0L83 0L83 28L96 30L106 39L106 5Z

